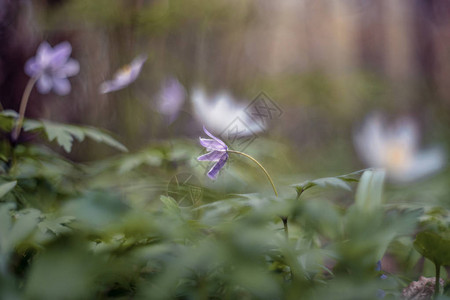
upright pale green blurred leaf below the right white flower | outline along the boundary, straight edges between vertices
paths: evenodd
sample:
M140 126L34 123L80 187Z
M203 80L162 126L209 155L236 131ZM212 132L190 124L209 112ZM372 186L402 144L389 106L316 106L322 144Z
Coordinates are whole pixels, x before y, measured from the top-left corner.
M356 207L369 212L381 207L384 178L383 170L368 170L363 173L356 190Z

